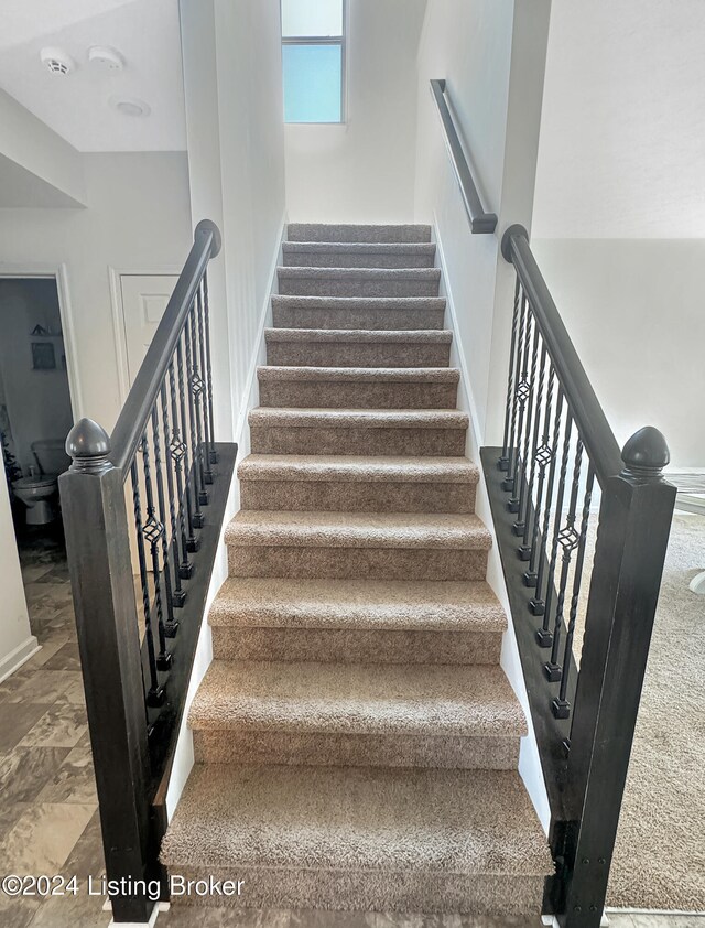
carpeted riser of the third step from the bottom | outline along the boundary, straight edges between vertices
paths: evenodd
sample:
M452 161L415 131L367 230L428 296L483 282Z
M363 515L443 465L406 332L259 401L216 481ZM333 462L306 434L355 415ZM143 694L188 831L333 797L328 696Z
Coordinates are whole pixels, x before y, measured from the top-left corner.
M317 663L497 663L501 632L212 626L216 660Z

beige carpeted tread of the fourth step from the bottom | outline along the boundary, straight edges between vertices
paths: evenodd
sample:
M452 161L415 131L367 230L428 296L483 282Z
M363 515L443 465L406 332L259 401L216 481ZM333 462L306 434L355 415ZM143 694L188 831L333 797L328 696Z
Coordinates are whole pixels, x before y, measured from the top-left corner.
M487 551L491 535L474 515L445 512L299 512L240 509L226 544L262 548L435 548Z

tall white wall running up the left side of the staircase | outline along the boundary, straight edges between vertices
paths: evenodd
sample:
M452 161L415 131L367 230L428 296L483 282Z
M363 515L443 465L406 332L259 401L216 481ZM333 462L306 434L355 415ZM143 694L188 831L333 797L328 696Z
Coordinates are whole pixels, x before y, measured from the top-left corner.
M242 460L285 211L280 6L279 0L181 0L180 6L191 208L194 220L206 216L223 231L223 253L209 270L216 438L238 442ZM235 479L225 524L238 508ZM208 606L227 573L220 544ZM204 622L187 703L212 658ZM192 765L184 719L166 797L170 816Z

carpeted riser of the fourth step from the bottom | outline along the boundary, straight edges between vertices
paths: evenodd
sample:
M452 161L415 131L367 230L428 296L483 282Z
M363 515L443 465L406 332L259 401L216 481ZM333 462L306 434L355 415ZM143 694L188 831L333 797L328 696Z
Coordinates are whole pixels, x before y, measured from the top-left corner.
M228 546L231 576L484 580L487 551L454 548Z

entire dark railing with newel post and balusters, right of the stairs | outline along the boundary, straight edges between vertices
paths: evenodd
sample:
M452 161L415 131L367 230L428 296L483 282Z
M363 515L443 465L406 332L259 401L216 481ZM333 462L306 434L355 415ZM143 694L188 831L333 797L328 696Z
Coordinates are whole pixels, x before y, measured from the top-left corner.
M527 230L501 249L517 273L503 446L481 456L551 806L544 909L597 928L676 489L657 429L620 451Z

